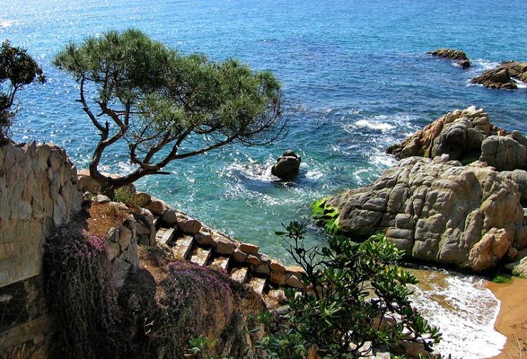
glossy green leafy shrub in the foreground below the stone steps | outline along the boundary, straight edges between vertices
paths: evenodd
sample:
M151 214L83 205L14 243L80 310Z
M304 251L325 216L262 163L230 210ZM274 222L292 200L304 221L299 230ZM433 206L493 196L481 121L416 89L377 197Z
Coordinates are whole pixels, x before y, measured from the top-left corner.
M336 237L305 249L304 232L297 222L277 232L288 236L288 252L307 275L301 295L286 293L291 319L261 342L268 355L293 355L302 344L318 346L323 358L359 358L380 345L397 353L401 340L432 351L441 334L412 308L407 284L417 280L397 266L402 254L393 244L380 235L362 243Z

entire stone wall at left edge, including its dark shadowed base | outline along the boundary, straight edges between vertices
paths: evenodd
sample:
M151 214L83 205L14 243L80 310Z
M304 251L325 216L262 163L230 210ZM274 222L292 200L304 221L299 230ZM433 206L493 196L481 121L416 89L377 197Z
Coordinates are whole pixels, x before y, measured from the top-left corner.
M61 147L0 146L0 358L46 358L53 326L43 243L82 202L77 170Z

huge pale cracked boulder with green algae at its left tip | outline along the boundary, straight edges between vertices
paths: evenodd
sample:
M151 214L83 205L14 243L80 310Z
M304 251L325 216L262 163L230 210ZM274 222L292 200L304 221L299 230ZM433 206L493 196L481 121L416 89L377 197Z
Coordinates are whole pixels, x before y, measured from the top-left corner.
M491 167L461 166L447 157L407 158L370 186L330 197L320 207L337 214L340 234L385 230L407 256L490 269L511 246L525 245L521 192Z

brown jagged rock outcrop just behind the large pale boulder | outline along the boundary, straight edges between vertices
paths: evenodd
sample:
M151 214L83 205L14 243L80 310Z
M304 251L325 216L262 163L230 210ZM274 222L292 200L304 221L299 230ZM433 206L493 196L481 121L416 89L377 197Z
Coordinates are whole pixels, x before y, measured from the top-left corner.
M499 171L526 168L527 139L520 132L507 133L492 125L482 108L455 110L434 120L386 152L398 159L449 155L464 163L480 160Z

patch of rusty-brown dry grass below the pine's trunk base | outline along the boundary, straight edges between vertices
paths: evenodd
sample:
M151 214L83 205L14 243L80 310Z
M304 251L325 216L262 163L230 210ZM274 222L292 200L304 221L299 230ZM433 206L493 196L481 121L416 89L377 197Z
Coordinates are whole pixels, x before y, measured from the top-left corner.
M88 209L89 217L86 220L89 234L102 234L105 236L108 230L119 227L129 213L118 209L108 203L93 203Z

